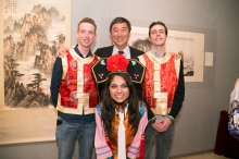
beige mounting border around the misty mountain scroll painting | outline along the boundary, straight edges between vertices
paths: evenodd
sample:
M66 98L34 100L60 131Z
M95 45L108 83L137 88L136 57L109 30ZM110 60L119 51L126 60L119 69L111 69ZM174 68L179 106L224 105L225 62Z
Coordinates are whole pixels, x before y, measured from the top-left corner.
M14 12L17 8L23 8L21 2L24 0L12 0L13 9L10 10L7 3L10 0L1 1L2 12L0 13L1 22L3 22L3 14L7 11ZM53 1L30 0L27 1L28 5L36 3L48 3L54 7ZM59 3L55 0L54 3ZM71 1L65 0L64 7L65 16L65 45L70 46L71 42ZM25 2L26 4L26 2ZM49 7L49 5L48 5ZM17 12L17 11L16 11ZM3 25L0 25L0 36L3 37ZM3 37L4 38L4 37ZM4 63L3 40L0 42L0 64ZM4 103L4 69L0 68L0 145L8 144L22 144L33 142L47 142L55 139L56 126L56 110L51 106L48 108L22 108L22 109L5 109ZM50 82L49 82L50 83Z

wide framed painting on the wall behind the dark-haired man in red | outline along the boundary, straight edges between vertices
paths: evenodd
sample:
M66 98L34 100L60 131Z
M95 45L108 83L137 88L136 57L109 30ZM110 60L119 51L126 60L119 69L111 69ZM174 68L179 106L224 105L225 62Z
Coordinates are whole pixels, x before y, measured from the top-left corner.
M148 27L133 26L128 44L147 52L148 37ZM166 51L181 54L186 82L203 82L204 34L168 29Z

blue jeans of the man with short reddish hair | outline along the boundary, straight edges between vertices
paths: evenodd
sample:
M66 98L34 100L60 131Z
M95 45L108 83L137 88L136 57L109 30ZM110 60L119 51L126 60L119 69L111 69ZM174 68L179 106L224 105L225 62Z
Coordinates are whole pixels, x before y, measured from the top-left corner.
M71 159L76 137L78 138L78 159L90 159L93 150L96 122L87 124L67 123L62 121L56 125L56 144L59 147L59 159Z

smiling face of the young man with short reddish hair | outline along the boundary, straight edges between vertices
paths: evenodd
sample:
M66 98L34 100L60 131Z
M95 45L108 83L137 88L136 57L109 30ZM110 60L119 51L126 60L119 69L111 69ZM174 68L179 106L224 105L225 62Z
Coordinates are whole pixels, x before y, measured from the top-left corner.
M89 48L96 39L96 27L90 23L80 23L76 32L78 45L84 48Z

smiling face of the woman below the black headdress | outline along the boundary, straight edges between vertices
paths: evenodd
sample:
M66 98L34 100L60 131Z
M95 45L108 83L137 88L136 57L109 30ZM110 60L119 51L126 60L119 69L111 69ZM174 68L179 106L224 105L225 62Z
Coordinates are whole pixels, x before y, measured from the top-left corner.
M120 76L115 75L109 86L109 91L111 98L116 102L124 102L129 97L129 88L126 84L126 81Z

